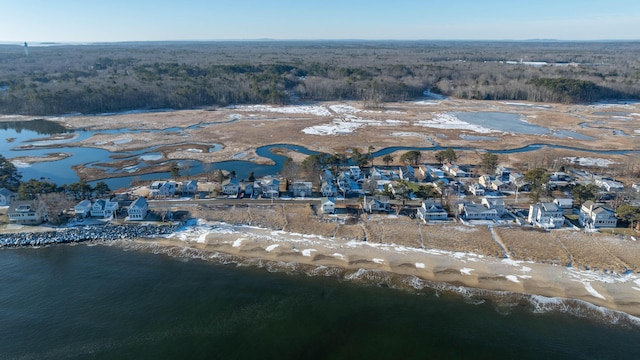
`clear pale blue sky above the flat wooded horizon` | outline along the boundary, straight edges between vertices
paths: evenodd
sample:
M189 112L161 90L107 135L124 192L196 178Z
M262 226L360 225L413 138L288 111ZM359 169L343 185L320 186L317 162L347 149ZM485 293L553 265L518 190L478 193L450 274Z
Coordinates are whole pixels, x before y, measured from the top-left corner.
M639 0L2 0L0 42L639 40Z

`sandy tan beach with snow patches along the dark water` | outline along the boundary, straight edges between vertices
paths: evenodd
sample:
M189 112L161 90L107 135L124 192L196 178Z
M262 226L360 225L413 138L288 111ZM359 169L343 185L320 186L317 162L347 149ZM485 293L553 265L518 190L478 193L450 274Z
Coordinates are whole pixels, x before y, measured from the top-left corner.
M585 271L469 252L327 239L221 222L199 221L168 236L134 242L191 248L203 252L204 257L224 254L237 263L269 262L270 267L281 269L310 267L319 274L343 271L353 277L362 272L384 272L426 282L546 298L539 299L541 302L573 299L624 312L632 322L640 324L640 277L633 273Z

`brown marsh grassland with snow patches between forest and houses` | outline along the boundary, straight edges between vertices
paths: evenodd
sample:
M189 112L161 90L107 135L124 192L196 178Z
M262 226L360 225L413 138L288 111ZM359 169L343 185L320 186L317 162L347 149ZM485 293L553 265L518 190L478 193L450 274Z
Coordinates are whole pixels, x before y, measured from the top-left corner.
M600 109L589 105L562 104L526 104L510 105L499 101L441 100L429 104L419 102L387 103L384 108L364 109L360 102L323 102L312 103L322 112L294 110L286 112L277 108L228 107L213 110L184 110L175 112L137 113L113 116L77 116L56 118L63 125L90 130L101 129L138 129L131 134L96 134L91 138L75 143L79 146L99 147L112 152L128 151L158 146L164 159L192 159L205 163L229 160L249 160L255 163L270 163L271 160L256 155L255 149L269 144L302 145L310 150L326 153L343 152L348 148L359 148L367 152L370 145L376 150L393 147L423 147L435 145L441 147L463 146L477 149L499 150L526 146L528 144L564 145L584 149L623 149L640 150L640 141L634 129L640 128L640 117L630 115L621 120L607 117L598 112L623 111L630 114L640 113L640 104L608 106ZM535 105L535 106L534 106ZM336 106L338 106L336 108ZM341 112L340 106L348 107L352 113ZM267 109L267 110L265 110ZM292 109L292 107L285 108ZM525 117L526 121L553 131L574 131L591 136L596 140L578 140L566 137L545 135L512 134L503 132L478 133L471 128L447 128L448 126L425 125L441 114L451 112L506 112ZM603 121L606 120L606 128ZM200 127L187 127L200 124ZM353 125L353 128L332 135L308 134L304 129L312 126ZM355 124L355 125L354 125ZM179 127L183 132L145 132L148 130ZM624 131L625 136L614 133ZM462 135L490 136L496 140L466 140ZM220 151L208 152L210 145L220 144ZM164 145L164 146L162 146ZM202 152L189 151L199 149ZM304 155L282 151L296 161ZM402 152L392 154L398 161ZM624 155L596 155L575 150L540 150L503 156L509 164L548 165L554 159L566 156L595 156L615 162L629 163L632 159ZM433 160L433 153L424 152L423 161ZM460 162L477 163L478 153L474 150L461 151ZM374 162L382 164L380 158ZM117 167L117 162L114 166ZM156 169L161 171L164 169ZM76 171L86 180L113 176L78 168Z

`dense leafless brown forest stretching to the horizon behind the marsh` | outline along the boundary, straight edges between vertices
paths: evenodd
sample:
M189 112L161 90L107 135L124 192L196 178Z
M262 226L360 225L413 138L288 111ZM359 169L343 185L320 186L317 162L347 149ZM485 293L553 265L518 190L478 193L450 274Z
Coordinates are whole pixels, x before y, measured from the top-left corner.
M42 45L42 44L41 44ZM640 98L638 42L254 41L0 45L0 113L53 115L432 93Z

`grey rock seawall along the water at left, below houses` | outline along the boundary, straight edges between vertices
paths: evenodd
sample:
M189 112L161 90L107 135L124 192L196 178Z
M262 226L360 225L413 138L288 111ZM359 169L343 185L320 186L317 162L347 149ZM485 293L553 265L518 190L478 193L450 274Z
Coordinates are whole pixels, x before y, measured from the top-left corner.
M84 241L137 239L167 235L182 224L172 225L102 225L57 229L46 232L0 234L0 247L43 246Z

